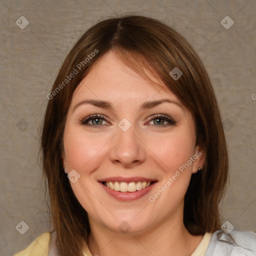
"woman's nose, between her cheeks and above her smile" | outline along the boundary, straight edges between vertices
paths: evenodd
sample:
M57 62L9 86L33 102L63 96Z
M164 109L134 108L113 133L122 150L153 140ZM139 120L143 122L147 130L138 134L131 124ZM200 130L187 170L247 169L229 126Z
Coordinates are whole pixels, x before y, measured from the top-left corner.
M133 125L126 131L117 126L116 132L117 134L111 140L110 160L126 168L131 168L144 162L146 146Z

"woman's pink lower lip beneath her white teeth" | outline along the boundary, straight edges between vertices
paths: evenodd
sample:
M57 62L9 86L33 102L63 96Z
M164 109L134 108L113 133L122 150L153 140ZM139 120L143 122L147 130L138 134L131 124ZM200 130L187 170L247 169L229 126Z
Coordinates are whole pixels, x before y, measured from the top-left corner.
M142 188L141 190L136 190L134 192L120 192L120 191L115 191L114 189L108 188L107 186L103 185L101 182L99 184L103 187L103 189L111 196L114 198L121 200L121 201L131 201L131 200L136 200L143 195L146 195L152 187L156 184L157 182L155 181L153 184L146 188Z

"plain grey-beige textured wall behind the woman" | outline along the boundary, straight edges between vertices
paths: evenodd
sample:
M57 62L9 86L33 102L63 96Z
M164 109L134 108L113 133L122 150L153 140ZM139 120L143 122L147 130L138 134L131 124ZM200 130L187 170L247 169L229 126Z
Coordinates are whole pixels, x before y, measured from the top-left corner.
M256 230L255 0L0 0L0 255L50 230L38 127L61 62L87 28L127 12L164 21L203 60L230 157L223 222ZM21 15L29 21L24 29L15 23ZM220 23L226 15L234 21L229 29ZM15 228L21 220L29 226L24 234Z

